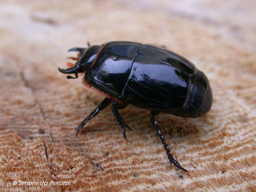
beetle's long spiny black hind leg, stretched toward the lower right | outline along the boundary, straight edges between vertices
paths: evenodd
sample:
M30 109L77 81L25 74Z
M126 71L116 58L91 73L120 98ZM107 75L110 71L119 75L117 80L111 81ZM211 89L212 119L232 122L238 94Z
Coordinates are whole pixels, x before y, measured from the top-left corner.
M166 153L167 153L167 156L168 156L168 160L170 161L171 164L173 163L173 165L174 165L178 170L180 169L181 171L186 171L186 172L188 172L187 170L185 170L185 169L180 165L180 163L178 163L178 162L173 158L173 156L172 156L172 154L171 154L171 151L170 151L170 149L168 148L168 145L167 145L167 143L166 143L166 141L165 141L165 139L164 139L164 137L163 137L163 134L162 134L162 132L161 132L161 130L160 130L160 127L159 127L158 123L155 121L155 118L154 118L154 116L155 116L155 115L158 115L159 113L160 113L160 112L158 112L158 111L151 111L151 112L150 112L150 120L151 120L152 125L155 127L155 129L156 129L156 131L157 131L157 133L158 133L158 135L159 135L161 141L162 141L163 148L165 149L165 151L166 151Z

